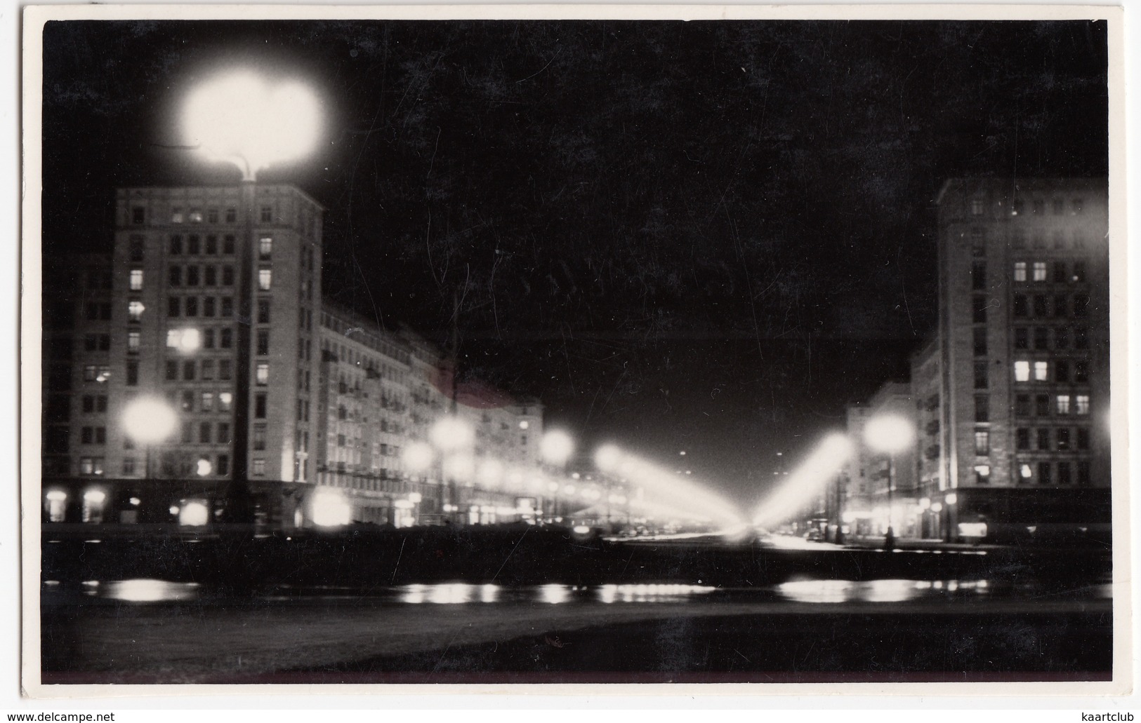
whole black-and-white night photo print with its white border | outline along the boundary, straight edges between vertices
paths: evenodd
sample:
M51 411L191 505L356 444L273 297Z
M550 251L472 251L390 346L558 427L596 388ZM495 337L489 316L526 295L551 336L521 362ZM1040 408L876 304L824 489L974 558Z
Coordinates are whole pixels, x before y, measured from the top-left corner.
M25 16L25 687L1128 682L1118 8L325 9Z

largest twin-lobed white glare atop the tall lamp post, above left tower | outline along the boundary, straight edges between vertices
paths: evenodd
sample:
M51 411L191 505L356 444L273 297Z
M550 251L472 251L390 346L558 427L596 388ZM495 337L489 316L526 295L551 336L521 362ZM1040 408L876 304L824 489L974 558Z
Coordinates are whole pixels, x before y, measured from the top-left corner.
M321 135L321 107L301 83L272 83L237 71L194 89L186 99L183 130L209 157L237 165L245 180L273 163L313 151Z

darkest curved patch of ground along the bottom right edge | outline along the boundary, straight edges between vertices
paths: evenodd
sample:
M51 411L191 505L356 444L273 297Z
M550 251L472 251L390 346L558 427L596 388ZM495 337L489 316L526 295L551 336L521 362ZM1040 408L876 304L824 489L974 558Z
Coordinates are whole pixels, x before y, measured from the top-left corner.
M1108 680L1111 665L1104 614L778 614L555 629L284 677L316 673L323 682L345 683L408 679L410 673L426 682L1041 681Z

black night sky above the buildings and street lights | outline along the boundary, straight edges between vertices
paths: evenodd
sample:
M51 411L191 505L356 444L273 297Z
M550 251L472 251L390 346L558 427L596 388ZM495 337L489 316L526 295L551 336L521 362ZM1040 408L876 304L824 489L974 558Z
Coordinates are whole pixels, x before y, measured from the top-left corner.
M226 64L313 82L326 295L541 397L583 447L743 502L934 322L961 174L1103 176L1106 26L1055 22L54 23L44 252L106 249L113 188L236 182L178 103Z

